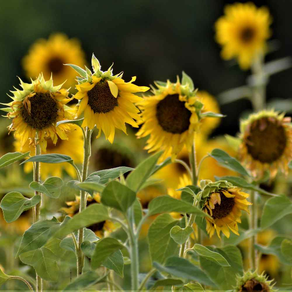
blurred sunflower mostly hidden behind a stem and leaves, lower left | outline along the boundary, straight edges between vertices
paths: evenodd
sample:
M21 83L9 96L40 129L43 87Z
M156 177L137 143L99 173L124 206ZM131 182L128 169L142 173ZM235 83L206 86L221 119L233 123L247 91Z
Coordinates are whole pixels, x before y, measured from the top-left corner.
M93 203L100 203L99 193L94 194L93 197L90 197L90 196L87 197L86 206L88 207L89 205ZM69 202L66 202L66 204L69 207L63 207L61 208L61 210L64 211L70 217L73 217L75 214L79 212L80 196L76 196L75 201L69 201ZM105 221L90 225L87 228L93 231L97 237L102 238L102 237L105 237L107 233L112 232L115 226L114 226L114 223L112 223L111 221L105 220Z

